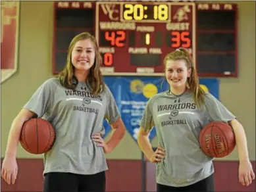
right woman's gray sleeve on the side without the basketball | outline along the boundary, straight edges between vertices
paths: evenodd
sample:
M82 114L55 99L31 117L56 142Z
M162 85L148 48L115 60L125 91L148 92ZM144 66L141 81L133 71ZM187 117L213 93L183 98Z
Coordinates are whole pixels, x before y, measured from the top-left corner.
M147 102L145 110L143 112L143 116L141 118L140 126L144 129L145 132L150 132L155 126L153 121L153 115L151 112L151 99Z

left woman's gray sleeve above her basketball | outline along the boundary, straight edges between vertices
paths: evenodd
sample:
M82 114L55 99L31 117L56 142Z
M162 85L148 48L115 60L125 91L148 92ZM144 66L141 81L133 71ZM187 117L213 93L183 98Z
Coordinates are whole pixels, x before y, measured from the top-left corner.
M35 112L40 118L50 110L53 98L53 80L47 80L32 95L30 100L24 105L24 108Z

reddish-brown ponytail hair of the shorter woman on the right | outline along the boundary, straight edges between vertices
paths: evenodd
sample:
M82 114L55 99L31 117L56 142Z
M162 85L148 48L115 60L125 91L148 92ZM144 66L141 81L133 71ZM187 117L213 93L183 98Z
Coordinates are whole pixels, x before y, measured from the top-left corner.
M167 60L179 59L184 59L186 61L186 66L188 70L191 69L191 75L187 80L187 86L193 92L193 99L195 101L195 105L197 105L197 108L200 108L201 105L205 103L205 91L203 91L203 89L199 85L199 78L197 75L197 70L195 68L195 63L193 62L193 59L188 50L184 48L179 48L172 53L168 53L164 59L165 69Z

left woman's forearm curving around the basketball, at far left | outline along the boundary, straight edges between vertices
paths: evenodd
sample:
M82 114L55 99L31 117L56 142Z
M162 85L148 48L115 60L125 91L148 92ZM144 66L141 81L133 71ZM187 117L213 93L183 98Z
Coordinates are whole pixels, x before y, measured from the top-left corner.
M31 118L34 115L33 112L22 109L16 118L14 118L13 123L11 125L11 129L8 136L7 148L5 151L6 156L16 156L18 142L20 141L20 132L22 126L26 120Z

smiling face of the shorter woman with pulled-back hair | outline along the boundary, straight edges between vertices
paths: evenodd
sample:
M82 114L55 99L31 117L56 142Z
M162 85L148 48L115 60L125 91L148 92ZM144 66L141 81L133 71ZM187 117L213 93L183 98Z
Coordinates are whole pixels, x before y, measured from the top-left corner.
M172 89L185 89L190 75L191 69L188 70L186 60L166 60L165 77Z

